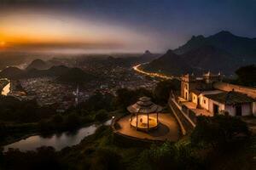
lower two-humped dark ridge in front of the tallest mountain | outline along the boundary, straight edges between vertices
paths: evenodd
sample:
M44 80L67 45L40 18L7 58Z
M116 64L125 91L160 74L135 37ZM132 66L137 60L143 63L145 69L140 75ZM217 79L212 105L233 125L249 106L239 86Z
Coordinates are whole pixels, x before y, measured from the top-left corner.
M168 50L159 59L154 59L144 66L147 71L163 72L179 76L194 72L201 74L205 71L232 74L241 65L232 54L211 45L204 45L184 54L175 54Z

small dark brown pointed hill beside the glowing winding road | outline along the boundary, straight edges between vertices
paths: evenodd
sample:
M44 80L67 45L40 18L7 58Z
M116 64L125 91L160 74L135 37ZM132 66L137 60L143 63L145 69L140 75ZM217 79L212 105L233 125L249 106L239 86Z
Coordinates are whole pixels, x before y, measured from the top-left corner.
M174 54L173 51L169 49L166 54L162 55L160 58L154 59L148 65L144 65L143 69L180 75L189 71L190 65L183 59L183 56Z

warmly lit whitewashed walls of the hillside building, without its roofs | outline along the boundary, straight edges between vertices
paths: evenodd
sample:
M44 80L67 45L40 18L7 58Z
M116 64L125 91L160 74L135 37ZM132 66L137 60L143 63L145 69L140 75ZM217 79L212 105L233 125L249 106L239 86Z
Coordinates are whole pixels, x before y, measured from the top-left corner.
M206 79L206 77L204 77L204 79ZM212 82L216 82L217 79L218 79L218 77L213 77L213 79L211 79L211 80L212 80ZM224 91L226 91L226 90L224 90L223 87L217 88L220 90L208 90L208 91L202 91L200 93L200 91L197 90L197 88L195 86L195 84L196 84L195 82L196 82L195 77L192 77L189 75L182 77L181 96L183 99L190 101L190 102L194 103L195 105L197 105L197 108L205 109L205 110L211 112L212 114L214 114L214 113L218 114L221 112L229 112L230 116L249 116L252 114L253 114L253 116L256 116L256 102L242 103L242 104L237 104L237 105L226 105L223 103L219 103L218 101L215 101L213 99L208 99L206 97L206 95L224 93ZM215 84L218 84L218 83L221 83L221 82L217 82ZM230 87L228 87L228 88L230 89ZM233 88L233 85L232 85L232 88ZM232 90L230 90L230 91L232 91ZM247 93L255 94L256 93L255 90L252 91L251 88L248 89L247 87L242 87L242 91L240 89L240 91L238 91L238 92L240 92L240 93L242 92L241 94L247 94ZM250 97L252 98L252 95L250 95Z

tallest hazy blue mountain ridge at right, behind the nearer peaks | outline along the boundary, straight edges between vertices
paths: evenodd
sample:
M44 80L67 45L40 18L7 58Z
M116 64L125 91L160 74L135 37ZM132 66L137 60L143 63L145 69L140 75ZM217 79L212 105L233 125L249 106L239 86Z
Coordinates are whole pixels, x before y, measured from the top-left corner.
M243 62L256 62L256 39L248 37L238 37L230 31L220 31L209 37L193 36L183 46L174 50L176 54L184 54L195 48L212 45L216 48L223 49L236 59Z

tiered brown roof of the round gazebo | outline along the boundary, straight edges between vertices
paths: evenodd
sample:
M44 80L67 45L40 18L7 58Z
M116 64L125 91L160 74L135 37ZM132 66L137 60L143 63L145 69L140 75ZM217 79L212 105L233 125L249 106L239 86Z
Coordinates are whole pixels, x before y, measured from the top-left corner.
M150 98L142 97L137 103L127 107L131 113L156 113L162 111L160 105L155 105Z

